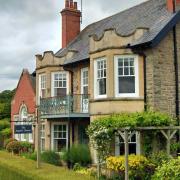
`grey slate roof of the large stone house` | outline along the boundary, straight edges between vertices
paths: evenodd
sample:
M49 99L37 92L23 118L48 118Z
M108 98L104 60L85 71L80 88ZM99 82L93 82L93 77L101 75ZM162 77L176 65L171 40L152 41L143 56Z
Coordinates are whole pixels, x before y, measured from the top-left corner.
M166 9L166 0L149 0L122 11L118 14L105 18L96 23L90 24L67 46L60 49L55 56L62 57L68 50L75 50L77 53L65 61L65 64L71 64L89 58L89 36L96 35L100 38L104 30L115 29L117 34L127 36L133 33L137 28L147 28L148 31L138 40L132 43L132 46L144 44L152 40L175 14Z

